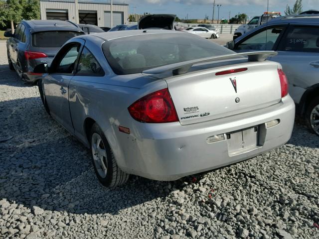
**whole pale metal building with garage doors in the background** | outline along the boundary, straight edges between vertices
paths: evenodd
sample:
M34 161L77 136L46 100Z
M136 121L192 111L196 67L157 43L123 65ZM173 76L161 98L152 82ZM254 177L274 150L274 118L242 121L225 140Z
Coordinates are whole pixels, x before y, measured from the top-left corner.
M41 19L111 27L111 3L97 0L40 0ZM128 23L129 5L113 3L113 26Z

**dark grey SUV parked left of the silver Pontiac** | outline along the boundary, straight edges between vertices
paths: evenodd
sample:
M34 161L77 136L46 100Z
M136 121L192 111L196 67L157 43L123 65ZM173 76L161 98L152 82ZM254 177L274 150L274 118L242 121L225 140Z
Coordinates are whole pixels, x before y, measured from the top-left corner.
M51 64L60 47L70 38L84 32L75 24L60 20L22 20L14 34L4 32L9 68L28 83L36 83L36 65Z

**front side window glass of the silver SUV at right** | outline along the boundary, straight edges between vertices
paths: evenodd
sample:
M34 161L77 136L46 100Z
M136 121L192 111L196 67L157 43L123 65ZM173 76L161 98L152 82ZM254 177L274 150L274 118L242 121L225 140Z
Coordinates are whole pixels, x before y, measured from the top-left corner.
M263 30L241 42L238 50L272 50L283 27L273 27Z

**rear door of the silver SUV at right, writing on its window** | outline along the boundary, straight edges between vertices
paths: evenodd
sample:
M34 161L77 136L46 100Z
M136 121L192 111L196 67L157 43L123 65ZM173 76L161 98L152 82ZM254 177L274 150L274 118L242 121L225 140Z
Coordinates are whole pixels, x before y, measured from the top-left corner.
M299 103L307 88L319 84L319 26L290 25L276 49L287 75L289 94Z

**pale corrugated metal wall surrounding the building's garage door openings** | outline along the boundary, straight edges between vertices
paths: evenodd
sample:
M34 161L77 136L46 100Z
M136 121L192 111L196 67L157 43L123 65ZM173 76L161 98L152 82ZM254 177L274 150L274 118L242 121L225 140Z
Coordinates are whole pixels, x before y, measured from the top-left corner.
M111 5L104 3L90 3L90 2L79 2L79 10L91 10L96 11L98 16L98 26L104 26L104 11L110 11ZM54 9L65 9L68 11L69 20L75 23L78 23L78 17L75 13L75 4L74 2L66 1L40 1L40 11L41 19L46 20L46 10ZM127 4L113 4L113 11L122 11L123 12L123 22L124 24L128 23L129 18L129 5ZM110 21L111 19L106 21Z

